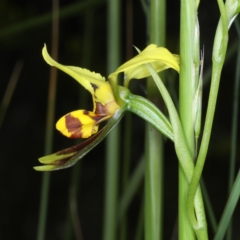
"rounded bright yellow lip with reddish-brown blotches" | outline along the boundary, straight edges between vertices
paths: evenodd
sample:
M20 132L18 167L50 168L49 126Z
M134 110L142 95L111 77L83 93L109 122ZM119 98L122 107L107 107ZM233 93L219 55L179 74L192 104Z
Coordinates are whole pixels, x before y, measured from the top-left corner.
M105 114L76 110L61 117L56 123L56 128L68 138L88 138L98 131L99 123L109 117Z

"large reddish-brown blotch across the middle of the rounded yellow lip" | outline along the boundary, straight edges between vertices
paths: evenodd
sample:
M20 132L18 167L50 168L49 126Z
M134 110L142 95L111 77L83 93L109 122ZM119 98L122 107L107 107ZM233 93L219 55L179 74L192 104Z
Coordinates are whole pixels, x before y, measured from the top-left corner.
M78 118L73 117L70 113L65 116L65 123L68 132L72 132L70 138L81 138L82 123Z

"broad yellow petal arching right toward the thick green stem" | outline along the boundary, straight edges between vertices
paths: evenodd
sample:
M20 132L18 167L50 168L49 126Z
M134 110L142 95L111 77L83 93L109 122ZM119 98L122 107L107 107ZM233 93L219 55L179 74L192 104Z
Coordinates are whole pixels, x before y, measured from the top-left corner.
M167 68L173 68L178 72L180 71L178 55L170 53L166 48L150 44L137 56L121 65L109 77L116 77L116 74L120 72L125 73L126 80L147 77L150 73L145 66L146 63L151 63L156 72L163 71Z

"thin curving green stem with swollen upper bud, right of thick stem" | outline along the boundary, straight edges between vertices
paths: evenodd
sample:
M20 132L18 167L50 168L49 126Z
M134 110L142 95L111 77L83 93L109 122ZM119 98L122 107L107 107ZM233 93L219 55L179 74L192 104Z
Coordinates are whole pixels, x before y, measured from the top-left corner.
M203 227L203 229L206 228L206 226L205 227L201 226L200 222L197 222L199 219L196 219L195 217L193 201L194 201L194 196L195 196L197 187L199 185L203 166L206 159L206 154L208 151L213 118L214 118L214 113L216 108L221 71L222 71L222 66L226 56L226 49L227 49L227 42L228 42L226 9L221 0L218 0L218 4L221 12L221 19L217 27L217 32L216 32L215 41L214 41L213 70L212 70L212 80L211 80L211 88L210 88L210 94L209 94L209 100L208 100L207 114L206 114L206 120L205 120L199 155L198 155L197 163L194 169L193 179L190 183L189 191L188 191L188 201L187 201L188 215L195 229L198 229L200 227ZM204 224L204 222L202 223Z

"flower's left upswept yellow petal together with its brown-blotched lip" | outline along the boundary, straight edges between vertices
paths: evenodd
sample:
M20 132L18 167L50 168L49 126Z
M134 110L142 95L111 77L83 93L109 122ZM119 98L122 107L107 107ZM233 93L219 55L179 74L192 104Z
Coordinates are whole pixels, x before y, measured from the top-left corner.
M99 124L110 118L120 107L115 102L111 87L105 78L87 69L64 66L51 58L44 45L42 54L44 60L67 73L87 89L93 99L93 110L76 110L61 117L56 128L69 138L88 138L98 131Z

